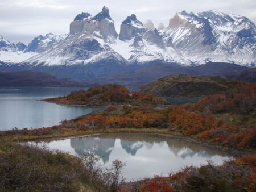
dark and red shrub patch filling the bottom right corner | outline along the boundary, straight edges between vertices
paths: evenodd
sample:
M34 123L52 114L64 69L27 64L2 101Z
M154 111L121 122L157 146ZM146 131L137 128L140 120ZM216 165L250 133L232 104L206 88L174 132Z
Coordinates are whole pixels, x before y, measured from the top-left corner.
M244 156L238 160L211 164L187 166L170 177L177 191L255 191L255 158Z

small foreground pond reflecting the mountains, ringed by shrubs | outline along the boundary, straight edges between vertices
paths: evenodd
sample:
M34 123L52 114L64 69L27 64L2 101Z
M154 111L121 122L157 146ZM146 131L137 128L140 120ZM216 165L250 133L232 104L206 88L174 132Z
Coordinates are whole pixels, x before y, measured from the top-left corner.
M166 176L167 172L176 172L186 165L200 166L207 161L219 165L232 158L198 144L142 133L108 133L30 144L46 145L77 156L95 153L103 167L109 167L115 159L121 160L126 162L123 176L127 181L156 174Z

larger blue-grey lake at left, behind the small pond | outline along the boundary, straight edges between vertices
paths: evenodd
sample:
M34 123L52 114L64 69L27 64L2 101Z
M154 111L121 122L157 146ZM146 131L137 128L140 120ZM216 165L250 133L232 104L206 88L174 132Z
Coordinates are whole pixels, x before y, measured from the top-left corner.
M0 130L40 128L60 124L102 107L63 106L40 101L68 95L80 88L0 88Z

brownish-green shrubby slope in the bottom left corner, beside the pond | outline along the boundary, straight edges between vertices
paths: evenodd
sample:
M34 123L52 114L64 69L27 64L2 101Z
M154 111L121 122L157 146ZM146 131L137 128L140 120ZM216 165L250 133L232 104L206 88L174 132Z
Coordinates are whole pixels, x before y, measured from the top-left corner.
M102 169L98 160L0 140L0 191L117 191L125 164L115 160Z

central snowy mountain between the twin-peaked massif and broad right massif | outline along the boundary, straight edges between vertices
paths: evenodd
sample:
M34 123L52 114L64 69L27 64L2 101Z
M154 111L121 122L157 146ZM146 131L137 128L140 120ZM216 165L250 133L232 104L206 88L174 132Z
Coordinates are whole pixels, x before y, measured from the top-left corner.
M158 30L149 30L132 14L121 24L119 38L110 47L124 57L129 64L150 64L152 62L176 62L191 65L172 47L171 37Z

